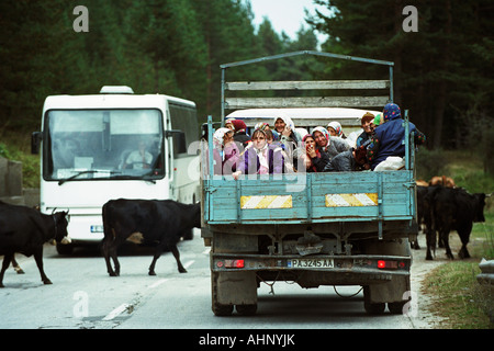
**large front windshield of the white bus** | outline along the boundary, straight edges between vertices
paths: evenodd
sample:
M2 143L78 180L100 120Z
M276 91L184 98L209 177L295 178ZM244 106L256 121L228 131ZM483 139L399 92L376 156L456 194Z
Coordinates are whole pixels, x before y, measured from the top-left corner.
M66 181L160 179L165 174L159 110L50 110L43 177Z

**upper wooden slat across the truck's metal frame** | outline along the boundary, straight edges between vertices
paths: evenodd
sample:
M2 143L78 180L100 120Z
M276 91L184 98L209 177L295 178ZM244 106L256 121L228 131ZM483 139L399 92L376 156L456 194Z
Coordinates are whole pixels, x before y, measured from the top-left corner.
M239 81L226 90L389 89L389 80Z

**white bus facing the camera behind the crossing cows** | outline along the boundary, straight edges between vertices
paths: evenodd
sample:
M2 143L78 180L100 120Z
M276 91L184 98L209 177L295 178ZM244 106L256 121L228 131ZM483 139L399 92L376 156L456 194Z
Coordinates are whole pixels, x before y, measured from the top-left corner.
M199 179L190 172L199 156L187 152L198 139L191 101L128 87L46 98L32 148L42 150L42 213L69 211L71 244L58 252L103 238L101 207L111 199L199 201Z

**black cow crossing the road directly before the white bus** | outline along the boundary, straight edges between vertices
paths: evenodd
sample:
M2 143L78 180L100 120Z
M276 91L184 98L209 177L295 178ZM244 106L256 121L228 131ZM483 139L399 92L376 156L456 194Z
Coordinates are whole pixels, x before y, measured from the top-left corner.
M179 272L186 273L177 242L184 231L201 227L201 204L187 205L172 200L111 200L103 205L103 257L110 276L120 275L116 249L134 233L141 233L146 241L158 242L149 275L156 275L156 261L166 248L173 253Z

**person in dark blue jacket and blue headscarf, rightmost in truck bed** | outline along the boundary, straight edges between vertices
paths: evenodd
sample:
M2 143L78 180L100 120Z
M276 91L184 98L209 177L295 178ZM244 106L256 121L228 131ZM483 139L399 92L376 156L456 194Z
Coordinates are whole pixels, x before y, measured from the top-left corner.
M405 156L405 127L400 106L394 103L386 104L383 118L384 123L375 128L368 147L367 157L372 170L390 156ZM409 123L409 133L412 132L415 132L415 145L423 145L425 135Z

